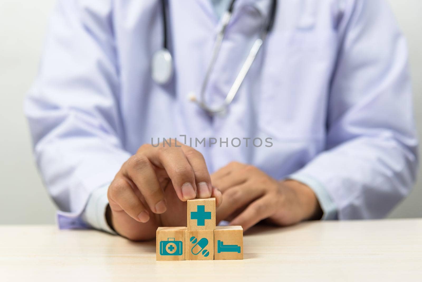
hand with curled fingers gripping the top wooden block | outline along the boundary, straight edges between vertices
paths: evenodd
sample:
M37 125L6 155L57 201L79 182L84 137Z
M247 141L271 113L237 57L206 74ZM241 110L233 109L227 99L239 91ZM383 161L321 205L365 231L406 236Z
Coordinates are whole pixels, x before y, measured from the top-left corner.
M108 187L109 222L131 240L155 237L157 227L185 226L186 201L216 198L205 160L200 152L177 143L142 145L130 157Z

